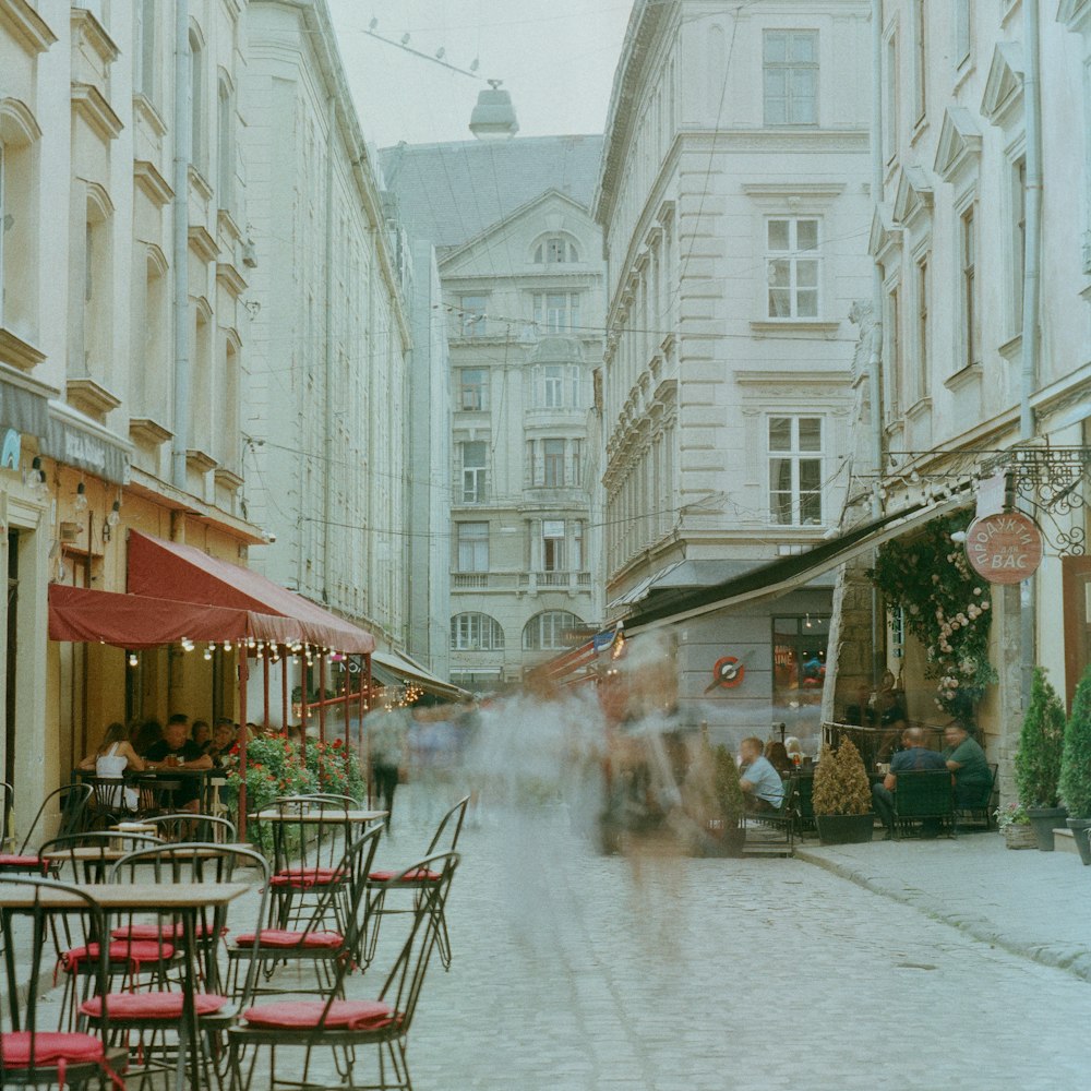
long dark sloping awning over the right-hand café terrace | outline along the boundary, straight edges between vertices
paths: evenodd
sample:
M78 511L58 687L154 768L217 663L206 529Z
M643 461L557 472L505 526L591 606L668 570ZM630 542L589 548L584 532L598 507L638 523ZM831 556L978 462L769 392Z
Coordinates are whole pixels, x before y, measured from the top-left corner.
M931 519L966 507L968 503L970 500L967 496L954 496L938 504L914 504L853 527L806 553L778 558L709 587L667 591L645 610L625 619L625 635L633 636L643 630L675 624L752 599L787 594L861 553L915 530Z

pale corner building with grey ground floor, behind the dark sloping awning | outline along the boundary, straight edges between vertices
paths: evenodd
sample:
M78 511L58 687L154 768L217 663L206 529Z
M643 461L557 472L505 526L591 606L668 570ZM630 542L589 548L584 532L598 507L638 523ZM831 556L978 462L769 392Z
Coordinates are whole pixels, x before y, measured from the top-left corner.
M820 541L841 518L870 293L868 4L635 5L595 217L608 613ZM693 718L815 732L830 580L666 640ZM717 684L718 664L744 666Z

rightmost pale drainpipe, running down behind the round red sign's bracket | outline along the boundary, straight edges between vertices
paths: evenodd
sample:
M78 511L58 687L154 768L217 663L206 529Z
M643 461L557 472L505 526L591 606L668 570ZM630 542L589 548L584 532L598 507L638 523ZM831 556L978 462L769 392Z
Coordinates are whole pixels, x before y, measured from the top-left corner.
M1027 130L1027 229L1023 238L1022 285L1022 382L1019 403L1019 439L1034 437L1031 397L1038 386L1038 326L1042 291L1042 92L1039 59L1039 5L1023 4L1023 111ZM1024 580L1019 602L1019 645L1022 668L1022 704L1030 705L1034 662L1038 658L1035 631L1036 576Z

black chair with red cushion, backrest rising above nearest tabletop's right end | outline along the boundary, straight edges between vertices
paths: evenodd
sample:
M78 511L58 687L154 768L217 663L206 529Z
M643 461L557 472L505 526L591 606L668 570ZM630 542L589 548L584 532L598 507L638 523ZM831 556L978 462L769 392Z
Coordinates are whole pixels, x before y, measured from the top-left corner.
M187 842L137 849L119 860L111 879L117 882L155 882L158 884L239 882L238 870L253 868L259 885L257 915L245 909L247 923L263 920L266 909L268 864L265 858L241 846ZM239 904L239 903L232 903ZM240 920L239 922L243 922ZM193 984L193 1019L197 1030L196 1069L202 1087L218 1086L216 1058L223 1053L220 1035L235 1017L230 998L220 992L218 952L227 931L227 911L202 909L187 934L181 922L167 910L125 915L116 919L110 935L113 943L159 944L177 951L177 974L160 979L154 988L111 986L101 995L87 997L80 1015L92 1026L108 1022L109 1041L125 1041L132 1047L136 1036L136 1056L143 1087L164 1069L177 1070L179 1043L189 1042L188 1012L184 1008L184 983ZM187 1051L189 1045L187 1045ZM131 1048L132 1052L132 1048ZM192 1065L192 1060L190 1062ZM130 1077L134 1072L130 1069Z

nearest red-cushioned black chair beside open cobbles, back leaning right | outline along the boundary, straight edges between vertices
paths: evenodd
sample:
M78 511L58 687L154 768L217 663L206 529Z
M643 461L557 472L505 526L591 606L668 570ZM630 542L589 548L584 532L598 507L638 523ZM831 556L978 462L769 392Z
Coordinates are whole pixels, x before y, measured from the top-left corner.
M370 999L344 999L335 990L325 999L278 1000L253 1004L244 995L240 1004L240 1021L228 1031L231 1091L249 1091L255 1078L263 1091L278 1087L305 1086L308 1091L323 1088L369 1088L374 1091L411 1091L406 1060L409 1029L432 951L439 940L439 922L451 879L458 865L454 852L437 853L393 877L395 882L413 882L412 873L431 872L437 879L421 888L416 904L401 918L408 927L394 945L391 969L382 987ZM381 890L369 892L368 912ZM344 978L347 966L338 967ZM377 1047L375 1070L357 1076L365 1051ZM259 1066L257 1051L268 1048L268 1067ZM277 1051L302 1050L302 1066L288 1059L277 1059ZM311 1071L315 1050L329 1048L338 1071L338 1082L317 1083L317 1072ZM291 1079L277 1079L277 1074L291 1074ZM369 1079L369 1077L371 1077Z

